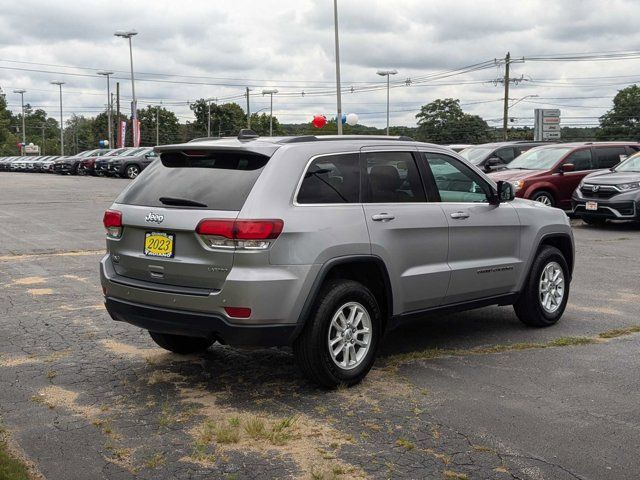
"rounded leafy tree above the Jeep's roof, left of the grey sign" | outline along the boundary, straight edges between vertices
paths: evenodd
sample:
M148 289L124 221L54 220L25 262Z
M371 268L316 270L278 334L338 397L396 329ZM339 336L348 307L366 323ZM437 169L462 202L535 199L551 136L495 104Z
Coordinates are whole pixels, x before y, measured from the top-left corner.
M477 115L469 115L460 108L460 100L437 99L423 105L416 115L417 140L433 143L482 143L489 126Z

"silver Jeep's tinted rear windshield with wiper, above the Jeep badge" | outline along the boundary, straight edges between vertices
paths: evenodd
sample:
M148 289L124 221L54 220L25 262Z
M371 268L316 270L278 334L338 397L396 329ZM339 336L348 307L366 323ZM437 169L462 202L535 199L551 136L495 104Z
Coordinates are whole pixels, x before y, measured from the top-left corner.
M266 155L240 151L166 152L116 203L237 211L268 161Z

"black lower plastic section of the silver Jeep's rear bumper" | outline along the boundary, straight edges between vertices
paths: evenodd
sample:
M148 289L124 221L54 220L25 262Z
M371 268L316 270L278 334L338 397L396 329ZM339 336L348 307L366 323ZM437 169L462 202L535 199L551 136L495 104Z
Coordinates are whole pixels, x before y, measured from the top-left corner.
M210 338L236 346L285 346L296 325L232 325L215 314L150 307L106 297L111 318L151 332Z

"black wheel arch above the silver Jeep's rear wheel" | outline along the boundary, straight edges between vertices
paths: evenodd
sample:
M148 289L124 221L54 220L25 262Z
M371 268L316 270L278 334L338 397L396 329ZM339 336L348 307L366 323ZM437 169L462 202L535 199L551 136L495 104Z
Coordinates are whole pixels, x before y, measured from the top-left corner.
M382 310L384 331L388 319L393 315L393 293L387 267L376 255L349 255L333 258L322 265L298 316L291 342L302 332L323 285L334 279L355 280L371 290Z

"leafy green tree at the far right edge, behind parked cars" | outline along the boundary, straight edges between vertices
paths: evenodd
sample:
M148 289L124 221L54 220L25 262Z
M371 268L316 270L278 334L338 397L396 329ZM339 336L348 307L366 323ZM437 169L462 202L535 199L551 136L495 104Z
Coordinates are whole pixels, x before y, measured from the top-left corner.
M640 137L640 87L631 85L613 98L613 108L600 117L599 140Z

